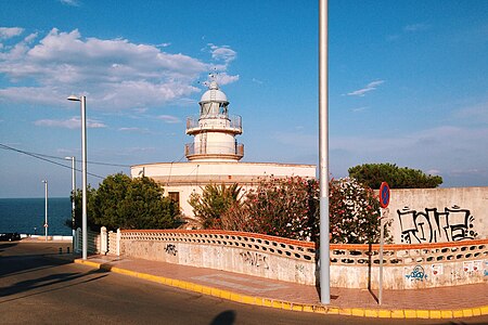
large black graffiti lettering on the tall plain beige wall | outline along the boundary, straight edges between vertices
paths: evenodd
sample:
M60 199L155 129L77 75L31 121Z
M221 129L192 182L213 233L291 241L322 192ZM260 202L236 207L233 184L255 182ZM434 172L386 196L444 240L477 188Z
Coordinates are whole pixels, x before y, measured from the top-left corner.
M478 235L474 230L475 218L467 209L458 206L445 208L425 208L424 211L404 207L397 210L400 219L401 243L423 244L438 242L458 242L474 239Z

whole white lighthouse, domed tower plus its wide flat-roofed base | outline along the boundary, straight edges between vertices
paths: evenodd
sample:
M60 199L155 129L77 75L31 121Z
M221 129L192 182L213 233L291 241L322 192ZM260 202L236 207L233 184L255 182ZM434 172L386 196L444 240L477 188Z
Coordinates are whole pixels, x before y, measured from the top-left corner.
M165 194L179 203L183 217L192 226L194 218L188 203L192 193L202 193L207 184L237 183L244 190L257 185L259 178L316 177L314 165L243 162L244 145L241 116L229 114L229 101L216 81L202 95L200 114L187 119L187 134L194 136L185 144L185 162L154 162L130 168L132 178L141 176L155 180Z

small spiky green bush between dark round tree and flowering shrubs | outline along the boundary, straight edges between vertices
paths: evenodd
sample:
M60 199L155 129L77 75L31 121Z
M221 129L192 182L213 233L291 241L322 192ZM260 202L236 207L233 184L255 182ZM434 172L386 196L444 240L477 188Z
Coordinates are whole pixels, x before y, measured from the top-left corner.
M202 190L202 194L190 195L189 204L202 227L222 229L221 217L231 206L239 203L241 190L236 183L229 186L208 184Z

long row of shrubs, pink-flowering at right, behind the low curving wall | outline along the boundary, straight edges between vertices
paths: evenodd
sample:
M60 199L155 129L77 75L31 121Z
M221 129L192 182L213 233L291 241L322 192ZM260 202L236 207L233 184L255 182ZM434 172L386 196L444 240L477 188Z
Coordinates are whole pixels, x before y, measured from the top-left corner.
M316 180L264 178L241 199L235 194L240 188L236 184L231 185L233 191L223 186L206 187L202 196L194 195L190 200L204 227L318 240L319 183ZM329 188L331 243L378 243L380 203L374 192L348 178L331 180ZM388 239L387 232L385 238Z

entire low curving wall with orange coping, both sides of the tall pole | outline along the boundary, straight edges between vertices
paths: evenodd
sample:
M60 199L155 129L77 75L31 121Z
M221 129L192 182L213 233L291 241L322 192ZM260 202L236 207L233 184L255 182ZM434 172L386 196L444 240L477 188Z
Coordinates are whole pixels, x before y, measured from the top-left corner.
M331 245L331 286L377 289L378 245ZM306 285L318 282L313 243L229 231L121 231L120 255ZM385 245L383 288L488 283L488 239Z

